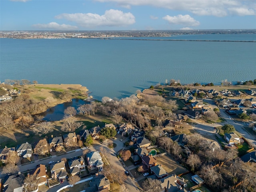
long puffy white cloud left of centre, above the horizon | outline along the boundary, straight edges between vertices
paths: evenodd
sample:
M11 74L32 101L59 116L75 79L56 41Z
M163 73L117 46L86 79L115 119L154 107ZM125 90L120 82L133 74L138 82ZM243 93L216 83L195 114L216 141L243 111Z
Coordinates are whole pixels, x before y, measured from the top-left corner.
M66 19L81 26L92 28L96 26L128 26L135 23L135 17L130 12L120 10L106 10L104 15L92 13L63 13L55 16L57 19Z

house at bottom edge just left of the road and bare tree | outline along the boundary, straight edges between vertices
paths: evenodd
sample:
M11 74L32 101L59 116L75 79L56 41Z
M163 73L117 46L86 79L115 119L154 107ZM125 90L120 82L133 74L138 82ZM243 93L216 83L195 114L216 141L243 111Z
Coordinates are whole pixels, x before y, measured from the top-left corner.
M90 181L89 187L84 188L86 192L108 192L109 190L110 181L104 175L96 176Z

